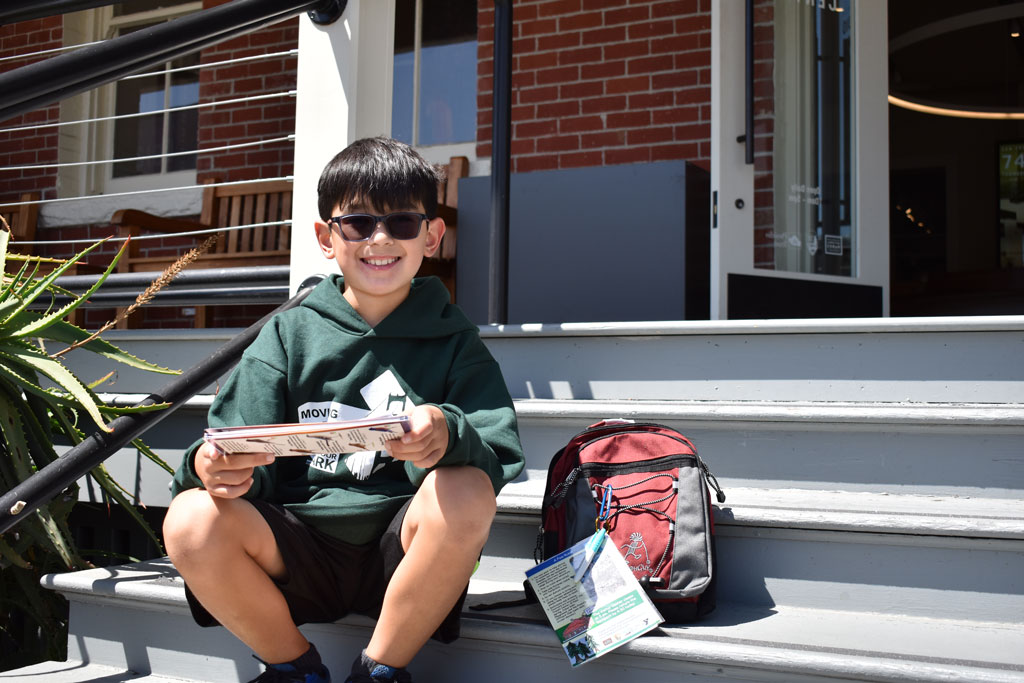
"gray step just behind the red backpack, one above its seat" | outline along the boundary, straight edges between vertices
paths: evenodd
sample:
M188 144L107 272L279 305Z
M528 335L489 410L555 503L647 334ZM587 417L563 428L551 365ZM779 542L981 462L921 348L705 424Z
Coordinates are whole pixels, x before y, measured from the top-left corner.
M513 484L485 555L506 578L532 564L539 488ZM531 489L530 489L531 488ZM726 489L713 506L719 595L759 608L842 608L1015 623L1024 613L1024 504Z

